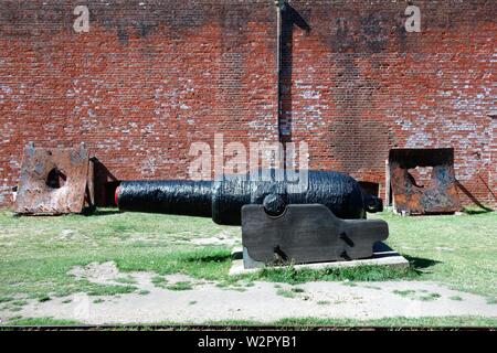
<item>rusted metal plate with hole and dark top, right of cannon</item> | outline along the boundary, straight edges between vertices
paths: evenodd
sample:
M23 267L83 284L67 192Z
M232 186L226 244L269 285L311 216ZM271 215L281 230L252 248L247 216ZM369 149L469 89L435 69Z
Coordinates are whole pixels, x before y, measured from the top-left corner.
M393 149L390 151L389 165L396 212L434 214L461 210L454 149ZM410 173L417 167L433 168L426 185L420 185Z

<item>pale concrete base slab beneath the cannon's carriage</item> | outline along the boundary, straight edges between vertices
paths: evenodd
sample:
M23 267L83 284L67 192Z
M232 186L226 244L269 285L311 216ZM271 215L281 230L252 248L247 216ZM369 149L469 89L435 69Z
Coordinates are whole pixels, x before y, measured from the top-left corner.
M335 261L335 263L318 263L318 264L304 264L295 265L296 270L299 269L324 269L324 268L340 268L340 267L356 267L356 266L388 266L396 268L409 267L409 261L401 256L399 253L394 252L384 243L377 243L374 245L374 254L371 258L350 260L350 261ZM235 248L232 252L233 265L230 269L230 276L255 274L262 268L244 268L243 266L243 249ZM277 267L273 267L277 268Z

